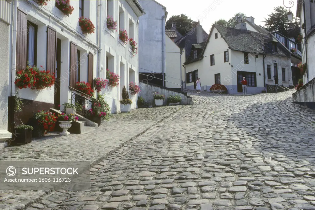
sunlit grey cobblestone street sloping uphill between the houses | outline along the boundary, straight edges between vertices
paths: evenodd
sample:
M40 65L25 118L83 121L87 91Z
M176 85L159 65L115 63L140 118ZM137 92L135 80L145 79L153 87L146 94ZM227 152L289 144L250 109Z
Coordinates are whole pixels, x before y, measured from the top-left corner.
M0 209L315 209L315 112L292 93L189 92L192 106L138 109L97 131L6 148L0 160L96 165L91 191L0 191Z

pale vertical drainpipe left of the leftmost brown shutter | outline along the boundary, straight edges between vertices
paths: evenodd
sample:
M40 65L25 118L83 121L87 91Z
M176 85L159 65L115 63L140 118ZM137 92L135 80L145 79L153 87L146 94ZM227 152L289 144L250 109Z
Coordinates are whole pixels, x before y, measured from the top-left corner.
M15 96L15 71L16 71L16 27L17 27L17 11L18 11L18 4L16 1L12 1L13 4L13 11L12 11L12 67L11 67L11 96Z

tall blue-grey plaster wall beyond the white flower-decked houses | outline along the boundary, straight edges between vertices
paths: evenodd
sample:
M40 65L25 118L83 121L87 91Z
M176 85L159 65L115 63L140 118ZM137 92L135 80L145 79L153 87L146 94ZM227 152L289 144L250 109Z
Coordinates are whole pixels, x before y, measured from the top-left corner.
M167 37L164 33L165 19L162 20L165 9L154 1L139 2L146 11L146 14L139 18L139 72L162 73L162 36L164 40Z

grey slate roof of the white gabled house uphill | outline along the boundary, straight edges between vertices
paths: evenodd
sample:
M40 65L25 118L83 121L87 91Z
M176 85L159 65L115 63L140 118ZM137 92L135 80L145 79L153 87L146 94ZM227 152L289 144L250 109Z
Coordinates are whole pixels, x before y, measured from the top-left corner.
M276 40L272 34L257 33L249 30L240 30L213 24L208 39L204 44L202 53L200 53L196 59L191 59L192 56L190 56L184 65L201 60L203 58L204 51L209 44L209 38L213 32L214 27L221 34L231 50L290 57L288 52L280 45L277 45L277 52L272 51L271 41Z

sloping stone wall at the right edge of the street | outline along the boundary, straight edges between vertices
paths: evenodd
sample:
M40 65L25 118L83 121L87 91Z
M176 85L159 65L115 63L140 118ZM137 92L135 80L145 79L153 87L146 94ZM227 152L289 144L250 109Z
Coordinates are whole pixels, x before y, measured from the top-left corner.
M315 109L315 78L292 94L293 102Z

